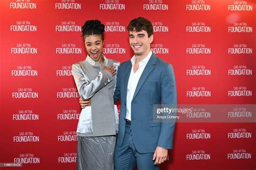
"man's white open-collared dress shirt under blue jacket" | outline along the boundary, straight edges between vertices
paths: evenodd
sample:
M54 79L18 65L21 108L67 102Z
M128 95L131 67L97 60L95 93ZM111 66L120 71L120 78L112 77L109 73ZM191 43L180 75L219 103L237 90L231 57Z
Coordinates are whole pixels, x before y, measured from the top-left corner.
M145 69L147 62L149 61L151 55L152 55L152 51L150 51L150 53L146 56L145 59L143 59L142 61L139 61L139 68L136 71L136 73L134 73L134 71L133 71L134 63L136 61L136 56L133 55L133 57L131 58L132 69L131 69L131 73L130 73L130 77L129 77L129 81L128 81L128 85L127 85L127 96L126 96L126 119L128 119L129 121L131 121L132 98L133 98L134 92L137 88L139 78L142 75L143 70Z

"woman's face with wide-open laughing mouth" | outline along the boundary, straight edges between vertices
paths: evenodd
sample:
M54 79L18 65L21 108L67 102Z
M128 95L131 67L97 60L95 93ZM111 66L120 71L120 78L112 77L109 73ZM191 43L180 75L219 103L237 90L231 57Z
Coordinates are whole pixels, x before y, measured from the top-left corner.
M90 58L94 61L102 60L102 50L103 50L103 41L102 37L99 35L90 35L86 36L84 39L84 44L87 53Z

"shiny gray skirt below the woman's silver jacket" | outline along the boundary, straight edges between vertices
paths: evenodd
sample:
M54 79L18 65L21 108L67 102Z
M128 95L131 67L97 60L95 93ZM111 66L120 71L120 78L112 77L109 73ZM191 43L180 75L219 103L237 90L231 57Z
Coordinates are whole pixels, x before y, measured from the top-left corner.
M77 136L77 170L112 170L116 136Z

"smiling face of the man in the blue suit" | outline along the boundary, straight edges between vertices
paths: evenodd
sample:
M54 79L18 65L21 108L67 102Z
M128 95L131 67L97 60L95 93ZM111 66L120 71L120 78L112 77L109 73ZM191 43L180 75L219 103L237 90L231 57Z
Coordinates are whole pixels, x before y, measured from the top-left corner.
M153 35L148 36L145 30L129 32L130 46L136 56L146 56L150 52L150 44L153 41Z

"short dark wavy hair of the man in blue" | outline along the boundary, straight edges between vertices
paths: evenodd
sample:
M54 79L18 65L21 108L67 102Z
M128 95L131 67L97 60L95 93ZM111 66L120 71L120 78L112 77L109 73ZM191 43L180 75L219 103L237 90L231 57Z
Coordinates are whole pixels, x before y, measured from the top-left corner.
M153 25L149 20L143 17L134 18L127 27L128 31L146 31L149 37L153 34Z

